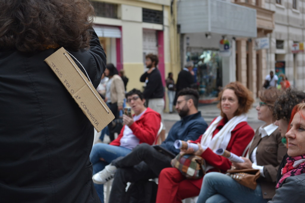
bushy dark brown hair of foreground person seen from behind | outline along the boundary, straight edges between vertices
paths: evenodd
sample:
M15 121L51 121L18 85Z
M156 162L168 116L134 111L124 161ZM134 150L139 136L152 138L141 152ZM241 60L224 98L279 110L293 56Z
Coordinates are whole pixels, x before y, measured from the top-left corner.
M94 9L88 0L0 0L0 50L89 48Z

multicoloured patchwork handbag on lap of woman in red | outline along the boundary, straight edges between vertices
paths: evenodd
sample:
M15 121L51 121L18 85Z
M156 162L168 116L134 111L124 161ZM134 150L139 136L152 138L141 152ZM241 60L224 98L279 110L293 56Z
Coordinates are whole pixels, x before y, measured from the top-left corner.
M170 163L188 179L199 179L205 174L206 163L197 155L179 153Z

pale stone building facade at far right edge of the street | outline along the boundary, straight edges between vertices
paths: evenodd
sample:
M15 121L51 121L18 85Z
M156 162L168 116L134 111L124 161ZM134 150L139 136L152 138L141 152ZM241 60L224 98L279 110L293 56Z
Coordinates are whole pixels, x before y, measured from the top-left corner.
M290 84L299 90L305 88L304 47L305 2L300 0L266 0L265 8L275 12L275 29L270 38L267 61L269 70L284 73ZM279 80L281 80L279 78Z

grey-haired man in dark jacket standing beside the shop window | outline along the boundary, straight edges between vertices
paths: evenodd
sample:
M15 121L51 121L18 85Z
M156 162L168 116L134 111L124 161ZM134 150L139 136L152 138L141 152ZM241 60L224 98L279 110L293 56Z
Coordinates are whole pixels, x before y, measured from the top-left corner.
M194 76L192 75L191 71L194 68L194 63L191 61L188 61L185 64L185 67L180 71L176 83L176 95L178 95L178 92L186 87L191 87L192 84L194 84ZM174 100L174 105L176 105L177 96Z

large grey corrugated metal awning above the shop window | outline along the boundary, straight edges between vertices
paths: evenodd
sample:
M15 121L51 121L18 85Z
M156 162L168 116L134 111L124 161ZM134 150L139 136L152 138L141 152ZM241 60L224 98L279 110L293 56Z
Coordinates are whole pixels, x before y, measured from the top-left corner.
M180 0L177 21L182 34L203 32L257 37L256 9L223 0Z

